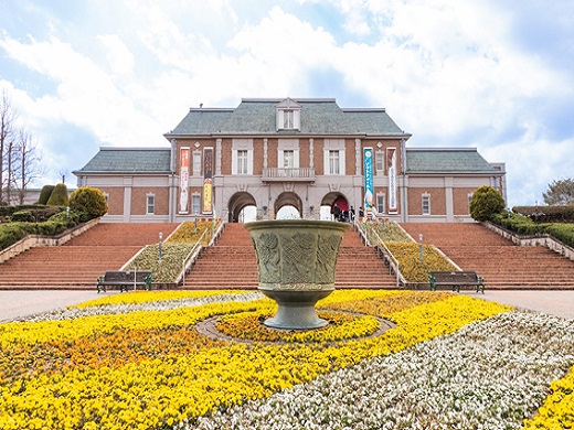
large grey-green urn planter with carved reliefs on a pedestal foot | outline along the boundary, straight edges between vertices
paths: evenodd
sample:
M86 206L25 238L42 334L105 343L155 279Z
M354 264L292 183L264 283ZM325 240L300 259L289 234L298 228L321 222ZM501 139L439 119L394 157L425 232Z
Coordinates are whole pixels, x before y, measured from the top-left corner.
M330 221L275 219L245 224L257 255L259 291L278 304L265 325L319 329L315 304L334 290L339 246L348 224Z

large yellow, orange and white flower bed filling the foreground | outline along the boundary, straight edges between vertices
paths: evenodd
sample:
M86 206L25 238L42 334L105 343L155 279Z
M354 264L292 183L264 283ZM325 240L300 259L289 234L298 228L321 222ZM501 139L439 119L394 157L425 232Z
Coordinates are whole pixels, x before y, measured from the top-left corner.
M574 322L464 294L336 291L319 312L396 327L273 345L195 330L215 315L267 315L274 303L259 293L155 294L0 324L0 428L519 429L574 365ZM539 426L568 422L572 378L552 387L560 398Z

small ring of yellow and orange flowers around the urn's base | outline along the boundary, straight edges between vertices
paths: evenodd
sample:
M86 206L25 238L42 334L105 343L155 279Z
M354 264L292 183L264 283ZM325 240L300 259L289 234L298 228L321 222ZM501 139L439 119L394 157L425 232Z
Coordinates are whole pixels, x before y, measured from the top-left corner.
M243 312L217 319L215 329L225 336L254 342L338 342L383 332L381 321L372 315L337 311L320 311L319 316L329 325L317 330L277 330L263 322L273 313ZM385 327L389 327L387 325Z

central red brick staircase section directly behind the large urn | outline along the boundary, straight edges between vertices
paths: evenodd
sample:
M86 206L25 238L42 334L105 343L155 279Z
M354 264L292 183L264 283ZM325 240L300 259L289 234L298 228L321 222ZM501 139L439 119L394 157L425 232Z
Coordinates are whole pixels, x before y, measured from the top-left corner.
M336 288L395 288L373 248L365 247L349 229L341 243ZM205 249L185 278L185 289L256 289L257 262L249 233L243 224L225 225L217 244Z

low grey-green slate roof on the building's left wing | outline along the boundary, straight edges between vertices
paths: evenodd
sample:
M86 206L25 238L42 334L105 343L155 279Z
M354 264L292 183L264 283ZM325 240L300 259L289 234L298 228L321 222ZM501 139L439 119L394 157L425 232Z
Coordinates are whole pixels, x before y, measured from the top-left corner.
M169 173L170 148L99 148L82 173Z

